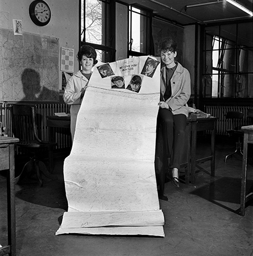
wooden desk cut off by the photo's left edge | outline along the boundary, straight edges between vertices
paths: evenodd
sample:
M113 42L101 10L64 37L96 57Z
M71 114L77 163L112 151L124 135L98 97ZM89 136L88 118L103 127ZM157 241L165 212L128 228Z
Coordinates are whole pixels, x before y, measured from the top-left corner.
M0 136L0 171L7 170L7 224L8 245L0 248L0 255L16 255L16 219L15 219L15 151L17 138Z

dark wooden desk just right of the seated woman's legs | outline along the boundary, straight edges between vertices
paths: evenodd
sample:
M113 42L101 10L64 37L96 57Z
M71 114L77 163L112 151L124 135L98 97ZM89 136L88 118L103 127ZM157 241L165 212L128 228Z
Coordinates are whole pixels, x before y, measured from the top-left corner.
M211 163L211 176L215 175L215 132L216 132L216 122L217 117L208 117L208 118L197 118L197 122L191 123L191 163L190 163L190 182L195 183L195 171L196 164L204 163L210 160ZM211 152L209 156L204 158L196 159L196 150L197 150L197 132L198 131L211 131Z

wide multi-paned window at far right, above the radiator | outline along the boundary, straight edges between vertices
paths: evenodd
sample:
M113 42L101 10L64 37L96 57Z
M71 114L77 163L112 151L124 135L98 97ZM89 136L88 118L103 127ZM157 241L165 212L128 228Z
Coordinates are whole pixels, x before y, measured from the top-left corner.
M204 97L253 97L252 52L252 22L206 27Z

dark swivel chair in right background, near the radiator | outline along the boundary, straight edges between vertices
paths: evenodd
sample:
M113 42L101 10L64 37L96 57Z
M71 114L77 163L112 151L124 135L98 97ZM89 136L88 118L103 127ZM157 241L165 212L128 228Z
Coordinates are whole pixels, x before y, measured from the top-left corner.
M229 111L226 113L226 119L231 120L232 122L232 129L226 130L229 136L237 137L237 142L235 143L235 151L231 154L226 155L225 162L227 162L227 158L239 152L239 154L243 155L242 151L242 142L241 139L243 138L243 131L240 129L240 125L238 122L243 119L243 113L237 111Z

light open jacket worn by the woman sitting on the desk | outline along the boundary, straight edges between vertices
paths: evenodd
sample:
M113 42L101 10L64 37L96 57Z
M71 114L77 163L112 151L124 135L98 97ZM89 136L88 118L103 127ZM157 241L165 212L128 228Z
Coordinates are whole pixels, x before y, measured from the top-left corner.
M166 84L164 84L162 76L166 82L166 67L161 68L161 81L160 81L160 100L164 101L164 93ZM185 114L188 117L189 108L187 101L190 98L190 73L180 63L177 63L177 68L171 77L171 97L165 101L169 108L172 110L172 114Z

